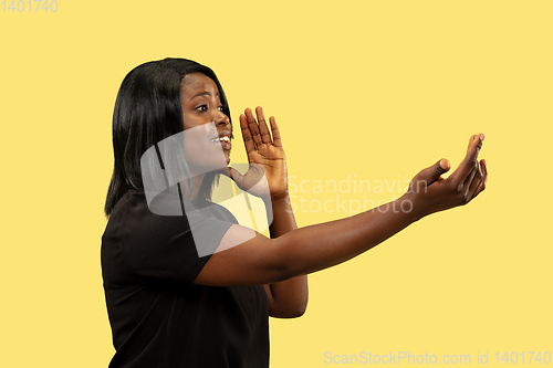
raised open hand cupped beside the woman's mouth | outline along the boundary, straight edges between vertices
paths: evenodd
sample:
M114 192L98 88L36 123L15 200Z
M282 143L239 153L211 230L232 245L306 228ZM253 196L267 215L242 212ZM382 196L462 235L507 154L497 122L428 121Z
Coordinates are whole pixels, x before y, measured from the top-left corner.
M263 108L255 108L257 119L250 108L240 115L240 128L250 168L244 175L229 169L230 177L242 190L251 192L252 187L262 178L263 169L272 199L288 196L288 174L284 149L280 138L279 127L273 116L269 118L271 133L265 123ZM251 192L255 194L255 192Z

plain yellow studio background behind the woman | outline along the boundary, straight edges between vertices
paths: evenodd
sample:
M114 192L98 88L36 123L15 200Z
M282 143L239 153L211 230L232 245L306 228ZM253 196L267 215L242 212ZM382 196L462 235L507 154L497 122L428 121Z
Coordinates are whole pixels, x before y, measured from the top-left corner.
M490 366L495 353L522 366L524 351L553 354L551 1L10 2L1 367L107 367L100 241L113 106L133 67L166 56L212 67L236 123L258 105L276 117L301 227L398 198L404 180L442 157L455 169L486 134L486 191L311 275L306 314L271 319L271 367L362 351L472 365L488 353ZM362 180L373 187L355 192Z

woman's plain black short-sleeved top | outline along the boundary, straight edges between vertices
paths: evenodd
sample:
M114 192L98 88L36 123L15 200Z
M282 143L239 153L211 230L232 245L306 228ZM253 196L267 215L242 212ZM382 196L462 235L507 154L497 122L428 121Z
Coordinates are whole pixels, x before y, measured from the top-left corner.
M238 223L217 204L195 215L204 215L196 235L216 243ZM109 217L101 257L116 350L109 367L269 366L263 286L194 284L210 255L198 255L187 215L155 214L144 191L129 190Z

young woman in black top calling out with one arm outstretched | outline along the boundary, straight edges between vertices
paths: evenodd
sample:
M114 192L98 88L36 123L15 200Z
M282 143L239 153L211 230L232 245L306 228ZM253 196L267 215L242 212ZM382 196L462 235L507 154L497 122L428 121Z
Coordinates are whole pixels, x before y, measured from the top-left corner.
M253 165L248 172L202 170L218 154L228 165L232 146L230 111L215 73L189 60L166 59L137 66L123 81L114 111L115 165L102 238L116 349L109 367L268 367L269 316L305 312L309 273L359 255L425 215L466 204L486 186L486 162L477 159L483 135L474 135L465 160L447 179L440 175L449 170L449 161L441 159L421 170L394 202L298 229L273 117L269 125L260 107L255 116L250 109L240 115ZM166 172L160 143L195 129L210 139L184 140L184 150L195 147L196 154L181 166L187 180L176 186L182 212L156 213L148 207L140 159L155 147L159 172ZM270 239L210 202L218 175L251 189L260 168L272 208ZM201 256L197 245L204 241L215 245Z

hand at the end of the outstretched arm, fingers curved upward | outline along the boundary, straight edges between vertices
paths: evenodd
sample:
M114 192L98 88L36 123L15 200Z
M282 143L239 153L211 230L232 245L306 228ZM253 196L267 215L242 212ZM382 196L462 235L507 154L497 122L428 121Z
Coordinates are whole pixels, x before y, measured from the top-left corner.
M404 198L411 201L417 219L467 204L484 190L488 168L486 160L478 161L483 138L483 134L470 138L467 156L447 179L441 178L441 175L450 169L447 159L440 159L413 178Z

